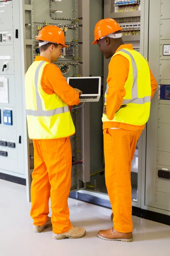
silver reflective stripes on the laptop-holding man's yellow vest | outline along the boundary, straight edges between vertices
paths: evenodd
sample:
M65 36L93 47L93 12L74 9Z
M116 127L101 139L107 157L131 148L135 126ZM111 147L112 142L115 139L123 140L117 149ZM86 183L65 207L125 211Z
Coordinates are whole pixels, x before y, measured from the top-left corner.
M69 111L68 106L65 107L61 107L61 108L56 108L53 110L48 110L45 111L42 109L42 101L38 92L38 76L39 76L39 72L40 72L40 68L42 67L42 65L45 63L46 61L41 61L40 64L38 65L36 71L35 71L35 90L36 90L36 101L37 101L37 110L30 110L27 109L26 110L26 114L28 116L55 116L57 114L62 114L62 113L66 113Z

